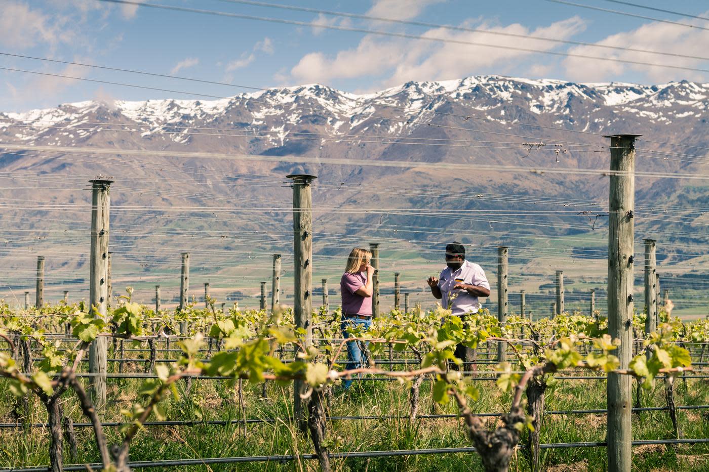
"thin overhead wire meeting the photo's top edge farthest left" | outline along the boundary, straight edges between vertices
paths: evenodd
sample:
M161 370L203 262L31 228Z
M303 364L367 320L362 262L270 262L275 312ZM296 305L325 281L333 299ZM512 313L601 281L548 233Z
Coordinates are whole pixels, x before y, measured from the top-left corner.
M489 44L489 43L474 43L472 41L435 38L435 37L421 36L421 35L409 35L406 33L393 33L393 32L389 32L389 31L381 31L381 30L368 30L365 28L351 28L351 27L347 27L347 26L335 26L335 25L325 25L325 24L313 25L313 23L308 23L307 21L285 20L285 19L281 19L281 18L266 18L263 16L242 15L242 14L238 14L238 13L228 13L225 11L191 9L191 8L186 8L186 7L182 7L182 6L147 4L147 3L142 3L139 1L128 1L128 0L99 0L99 1L105 1L105 2L113 3L113 4L133 5L133 6L139 6L139 7L144 6L144 7L148 7L148 8L152 8L152 9L182 11L184 13L201 13L201 14L205 14L205 15L240 18L242 20L267 21L270 23L282 23L282 24L286 24L286 25L306 26L308 28L313 27L313 26L317 26L318 28L327 28L330 30L341 30L341 31L350 31L353 33L365 33L365 34L372 34L372 35L393 36L395 38L425 40L425 41L432 41L432 42L436 42L436 43L452 43L452 44L468 45L468 46L495 47L498 49L515 50L515 51L520 51L520 52L537 52L540 54L548 54L548 55L555 55L555 56L562 56L562 57L581 57L583 59L593 59L593 60L610 61L610 62L624 62L627 64L647 65L647 66L652 66L652 67L666 67L669 69L692 70L695 72L709 72L709 69L697 69L695 67L684 67L684 66L677 66L677 65L670 65L670 64L657 64L657 63L653 64L652 62L623 60L623 59L618 59L618 58L613 58L613 57L589 56L589 55L574 54L572 52L545 51L545 50L531 49L531 48L527 48L527 47L493 45L493 44ZM549 0L549 1L559 1L559 0ZM559 3L566 3L566 2L559 1ZM682 23L677 23L677 24L682 24ZM700 28L700 27L693 27L693 28ZM709 29L709 28L700 28L700 29Z

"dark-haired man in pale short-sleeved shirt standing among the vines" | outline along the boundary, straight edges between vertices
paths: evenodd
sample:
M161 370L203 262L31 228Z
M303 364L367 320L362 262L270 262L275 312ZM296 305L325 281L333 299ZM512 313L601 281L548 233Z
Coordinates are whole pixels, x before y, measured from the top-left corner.
M445 263L447 267L441 271L438 279L429 277L428 286L433 296L441 300L443 308L448 308L450 304L452 314L465 321L468 315L480 310L478 297L490 296L490 283L481 266L465 260L465 247L459 242L452 242L445 247ZM450 301L453 294L457 296ZM474 361L473 349L458 344L455 356L466 363L465 370L473 370L470 364Z

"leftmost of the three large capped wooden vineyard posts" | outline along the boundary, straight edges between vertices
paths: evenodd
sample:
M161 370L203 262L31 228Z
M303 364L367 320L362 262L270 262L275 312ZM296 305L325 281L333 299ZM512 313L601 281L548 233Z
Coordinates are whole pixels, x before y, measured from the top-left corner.
M106 318L108 308L108 223L113 181L91 180L91 254L89 259L89 315ZM106 406L106 344L97 337L89 346L89 378L96 410Z

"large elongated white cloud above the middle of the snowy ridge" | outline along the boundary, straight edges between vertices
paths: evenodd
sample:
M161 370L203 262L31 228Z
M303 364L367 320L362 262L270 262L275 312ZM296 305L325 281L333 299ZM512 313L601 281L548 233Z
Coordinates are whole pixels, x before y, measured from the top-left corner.
M469 24L464 23L464 26ZM584 30L586 23L574 16L564 21L535 30L529 30L518 23L509 26L491 27L486 24L476 29L491 30L518 35L534 35L542 38L570 38ZM435 28L423 33L429 38L444 38L464 43L494 44L508 47L525 47L535 50L552 50L554 43L542 40L520 40L501 35L454 31ZM495 66L500 73L520 63L528 61L528 67L535 67L537 60L533 52L525 52L484 45L442 43L428 40L374 39L367 35L356 48L337 52L335 57L322 52L305 55L291 69L291 76L301 82L329 82L333 79L353 79L357 77L379 77L379 86L391 86L410 80L441 80L465 77L488 70Z

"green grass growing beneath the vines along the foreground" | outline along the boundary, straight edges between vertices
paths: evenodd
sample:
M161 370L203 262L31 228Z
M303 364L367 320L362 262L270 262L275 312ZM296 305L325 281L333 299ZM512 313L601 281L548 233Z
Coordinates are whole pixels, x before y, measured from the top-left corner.
M109 355L110 357L111 355ZM2 383L0 382L0 385ZM109 405L106 420L118 420L119 410L135 401L138 380L108 379ZM292 387L267 385L267 398L261 385L245 385L245 415L249 418L277 418L274 423L247 425L196 425L146 427L138 434L130 451L132 461L191 459L199 457L262 456L311 453L311 443L296 432L291 416ZM164 400L169 420L231 420L242 417L235 388L224 381L194 381L189 394L180 381L181 398ZM508 394L501 393L493 382L480 381L481 396L471 408L476 412L501 412L509 404ZM706 381L676 381L677 405L709 403ZM635 398L635 395L634 397ZM2 422L11 422L13 398L0 389ZM74 421L85 421L72 395L65 395L65 411ZM652 390L643 392L643 406L664 406L664 384L657 381ZM547 411L596 409L605 406L605 382L558 381L547 390ZM400 415L396 419L333 420L328 424L331 451L381 451L393 449L428 449L470 446L462 421L457 418L408 421L408 388L396 381L355 382L352 390L335 389L329 414ZM432 403L430 382L421 387L419 413L456 413L454 405ZM709 412L681 410L679 420L684 437L709 437ZM44 421L43 408L33 400L33 421ZM496 420L487 418L489 426ZM633 439L670 439L673 436L667 412L640 412L633 415ZM116 427L107 428L108 441L118 442ZM603 441L605 415L547 415L542 426L542 443ZM94 437L89 428L77 429L78 451L65 463L92 463L98 459ZM522 444L525 439L523 438ZM36 466L49 463L48 432L45 428L0 430L0 467ZM544 468L549 471L603 471L605 448L542 450ZM637 446L634 470L637 471L706 471L709 470L708 445ZM177 470L178 468L176 468ZM376 459L334 459L335 471L479 471L476 454L443 454ZM147 469L157 471L158 468ZM316 461L258 462L182 467L183 471L310 471L318 470ZM513 459L511 471L530 470L525 451Z

